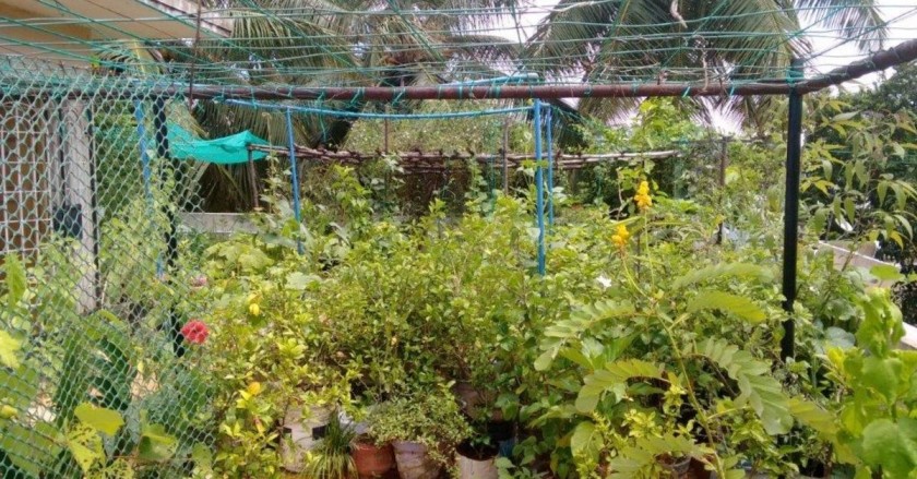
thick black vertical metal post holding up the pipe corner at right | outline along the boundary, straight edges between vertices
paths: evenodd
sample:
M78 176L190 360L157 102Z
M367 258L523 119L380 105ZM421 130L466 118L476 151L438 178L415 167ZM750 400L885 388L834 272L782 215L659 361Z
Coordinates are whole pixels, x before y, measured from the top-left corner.
M790 84L802 77L802 61L793 59L788 81ZM781 357L786 360L795 356L796 322L793 304L796 302L796 260L799 248L799 176L802 151L802 95L795 88L789 94L789 118L786 139L786 197L784 202L784 254L783 295L784 310L790 316L784 321L784 337L781 340Z

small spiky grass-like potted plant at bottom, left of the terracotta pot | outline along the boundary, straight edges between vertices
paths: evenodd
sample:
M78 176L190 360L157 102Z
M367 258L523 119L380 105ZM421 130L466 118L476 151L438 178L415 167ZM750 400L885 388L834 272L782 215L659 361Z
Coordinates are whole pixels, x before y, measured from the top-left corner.
M354 438L353 428L343 424L338 414L332 414L324 436L309 454L306 476L311 479L353 478L357 472L356 462L350 455Z

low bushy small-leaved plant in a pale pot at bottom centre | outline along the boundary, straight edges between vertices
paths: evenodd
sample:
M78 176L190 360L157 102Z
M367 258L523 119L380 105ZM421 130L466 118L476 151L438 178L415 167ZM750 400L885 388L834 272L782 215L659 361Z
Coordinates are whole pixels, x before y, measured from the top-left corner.
M471 434L448 387L405 395L380 406L369 418L378 443L391 442L402 479L434 479L448 452Z

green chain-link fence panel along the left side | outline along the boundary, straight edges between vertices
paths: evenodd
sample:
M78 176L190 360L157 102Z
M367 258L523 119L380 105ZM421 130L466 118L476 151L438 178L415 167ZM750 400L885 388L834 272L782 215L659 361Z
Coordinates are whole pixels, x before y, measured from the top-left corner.
M181 221L203 166L170 158L193 124L166 86L0 60L0 477L186 476L210 450Z

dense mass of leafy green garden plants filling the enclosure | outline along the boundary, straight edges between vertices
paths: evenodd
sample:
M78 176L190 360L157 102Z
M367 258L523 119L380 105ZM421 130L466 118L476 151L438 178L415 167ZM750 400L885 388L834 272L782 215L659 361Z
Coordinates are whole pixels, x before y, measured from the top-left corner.
M696 139L692 124L672 123L676 113L674 104L646 103L638 128L596 128L593 137L642 148ZM855 129L845 123L854 117L834 120ZM809 149L807 242L908 236L913 191L870 169L868 157L895 148L874 143L885 133L868 133L854 139L853 161L824 141ZM302 224L290 219L278 176L257 232L213 240L168 279L139 273L150 265L111 270L112 313L48 314L55 302L74 309L67 301L79 272L52 267L69 264L67 240L28 267L9 256L0 380L14 387L0 396L0 462L24 467L7 438L34 428L50 438L39 445L53 460L33 475L75 464L88 477L134 466L283 477L290 422L335 410L380 444L425 445L440 465L462 441L490 441L487 422L508 421L519 436L497 460L504 479L652 478L689 464L726 478L815 466L907 477L917 467L917 359L894 349L900 311L858 272L803 249L793 312L799 352L783 360L782 191L771 185L782 152L736 144L728 154L716 194L686 185L712 184L705 157L678 171L616 165L602 177L608 190L558 194L544 276L534 164L512 194L483 190L490 184L472 170L464 205L437 200L405 217L400 193L386 189L404 187L389 183L391 158L313 171ZM684 191L692 199L677 194ZM831 226L838 218L854 229L839 235ZM133 248L121 238L134 228L128 219L106 225L110 244ZM41 280L49 286L33 291ZM177 297L178 282L191 286L187 295ZM163 323L172 311L184 320ZM91 364L70 340L78 334ZM182 356L169 334L180 336ZM151 343L162 350L141 355L136 345ZM23 418L37 387L11 372L69 378L47 398L53 419ZM134 397L132 387L152 383L156 394ZM169 394L189 384L198 394ZM296 452L305 474L350 477L352 434L337 420L325 427L315 448Z

